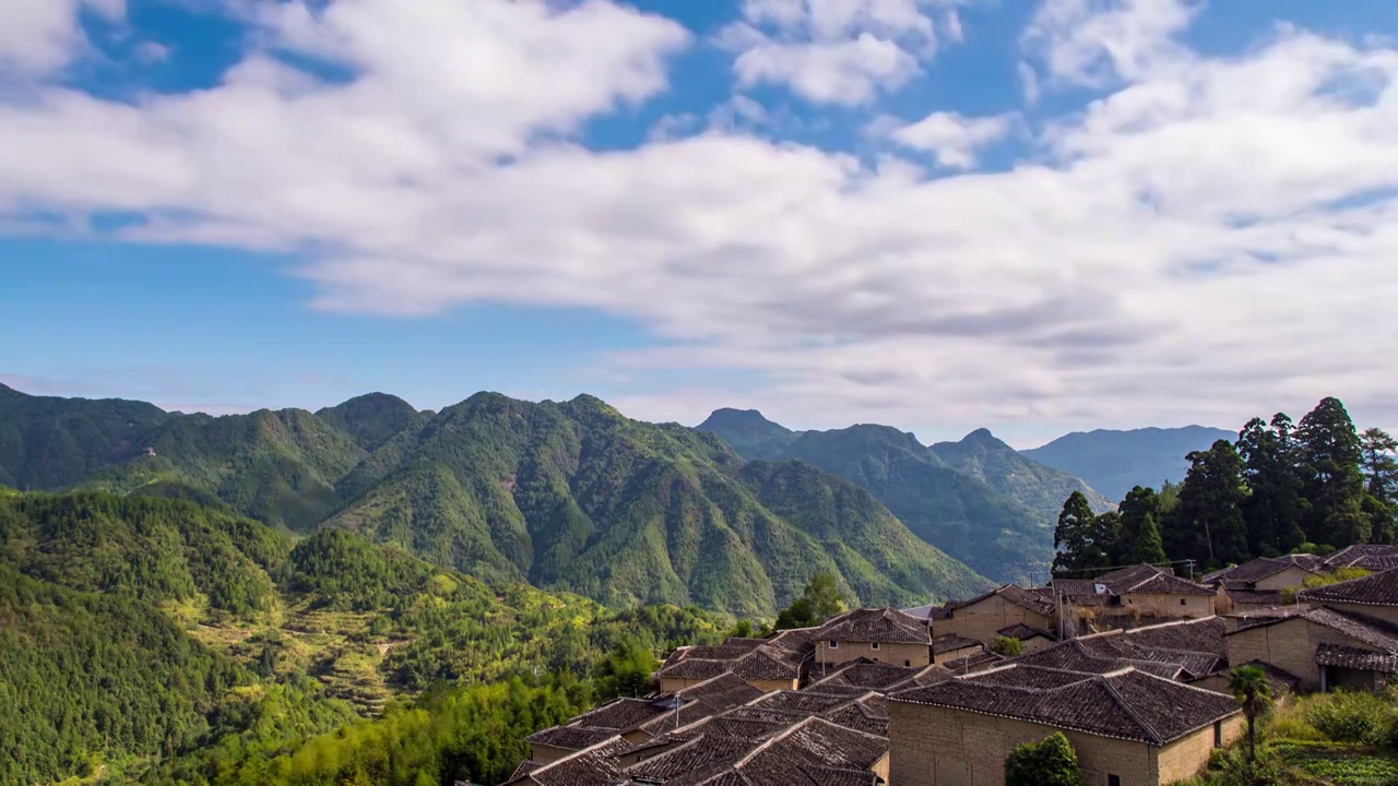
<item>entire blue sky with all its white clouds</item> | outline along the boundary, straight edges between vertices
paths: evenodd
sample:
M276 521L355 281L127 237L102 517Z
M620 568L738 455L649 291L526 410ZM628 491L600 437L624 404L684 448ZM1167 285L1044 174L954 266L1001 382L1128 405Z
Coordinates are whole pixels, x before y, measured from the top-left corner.
M1391 0L0 0L0 382L1398 425Z

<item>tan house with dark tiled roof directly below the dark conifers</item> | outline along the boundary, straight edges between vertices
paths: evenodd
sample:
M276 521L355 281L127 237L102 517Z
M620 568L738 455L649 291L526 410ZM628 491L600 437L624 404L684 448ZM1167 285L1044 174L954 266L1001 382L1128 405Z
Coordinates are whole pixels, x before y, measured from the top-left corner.
M1060 617L1075 628L1130 628L1215 614L1213 589L1155 565L1123 568L1095 579L1054 579L1051 592Z

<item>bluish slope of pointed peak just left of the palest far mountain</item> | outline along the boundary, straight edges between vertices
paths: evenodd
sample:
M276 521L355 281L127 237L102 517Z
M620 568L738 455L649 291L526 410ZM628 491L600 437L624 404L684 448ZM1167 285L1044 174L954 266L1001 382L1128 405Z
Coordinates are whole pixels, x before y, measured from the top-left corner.
M1116 508L1114 502L1093 491L1082 480L1025 457L984 428L967 434L960 442L938 442L931 450L946 466L977 477L995 491L1018 499L1043 522L1057 522L1064 501L1074 491L1082 492L1093 510Z

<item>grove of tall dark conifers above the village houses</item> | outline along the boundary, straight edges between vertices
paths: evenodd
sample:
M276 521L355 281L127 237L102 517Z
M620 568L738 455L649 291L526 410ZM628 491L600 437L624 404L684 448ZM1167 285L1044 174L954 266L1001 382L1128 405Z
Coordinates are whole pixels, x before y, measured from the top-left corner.
M1383 429L1356 429L1338 399L1321 400L1300 422L1283 413L1253 418L1236 441L1191 452L1181 484L1132 488L1117 510L1102 515L1082 495L1069 496L1054 533L1054 573L1188 559L1212 569L1395 543L1395 449Z

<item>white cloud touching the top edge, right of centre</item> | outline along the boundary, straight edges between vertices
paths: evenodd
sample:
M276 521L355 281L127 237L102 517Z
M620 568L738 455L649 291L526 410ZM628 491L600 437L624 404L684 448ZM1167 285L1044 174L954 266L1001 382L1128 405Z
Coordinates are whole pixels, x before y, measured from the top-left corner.
M1198 0L1044 0L1023 45L1050 78L1103 87L1187 57L1174 36L1201 8Z

